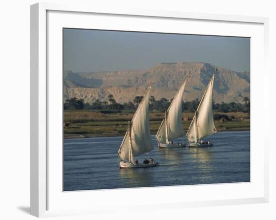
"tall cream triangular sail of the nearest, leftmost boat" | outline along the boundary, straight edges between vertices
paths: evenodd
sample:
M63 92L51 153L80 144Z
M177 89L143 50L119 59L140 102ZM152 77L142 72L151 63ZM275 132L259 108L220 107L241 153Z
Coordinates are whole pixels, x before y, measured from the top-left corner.
M139 156L154 149L149 120L150 88L151 87L148 88L143 100L139 104L132 118L130 123L130 136L128 129L118 151L118 156L121 159L128 160L132 163L132 157ZM131 149L129 147L129 137L131 139Z

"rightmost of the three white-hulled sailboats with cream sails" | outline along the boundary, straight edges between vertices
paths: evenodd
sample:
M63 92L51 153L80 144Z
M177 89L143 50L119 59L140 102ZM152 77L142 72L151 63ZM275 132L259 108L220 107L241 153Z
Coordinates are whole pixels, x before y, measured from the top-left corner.
M213 74L207 85L205 92L198 105L193 121L188 129L187 137L189 147L210 147L213 144L210 141L202 139L212 135L217 130L213 119L213 85L215 74Z

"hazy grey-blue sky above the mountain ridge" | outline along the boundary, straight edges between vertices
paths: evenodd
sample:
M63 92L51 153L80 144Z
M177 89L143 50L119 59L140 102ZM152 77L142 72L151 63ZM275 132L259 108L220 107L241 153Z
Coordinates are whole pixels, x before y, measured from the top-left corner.
M250 70L250 40L238 37L64 29L64 70L147 69L161 62L206 62Z

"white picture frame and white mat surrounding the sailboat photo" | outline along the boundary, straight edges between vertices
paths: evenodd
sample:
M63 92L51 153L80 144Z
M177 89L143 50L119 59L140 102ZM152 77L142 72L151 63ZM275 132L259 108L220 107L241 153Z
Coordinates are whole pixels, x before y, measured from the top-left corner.
M124 26L116 24L105 26L105 20L110 16L116 17L117 20L124 21ZM74 19L72 19L72 17ZM66 19L64 19L66 18ZM143 189L116 189L116 190L92 190L83 192L62 192L60 185L62 177L60 176L60 164L62 157L62 142L59 126L60 109L62 108L62 71L58 76L59 80L53 82L49 77L49 72L59 73L60 65L60 48L62 38L60 28L91 28L90 19L97 20L96 28L115 29L112 30L144 30L151 31L151 27L146 25L141 28L139 24L149 20L158 27L158 22L167 21L168 24L175 22L186 22L189 33L205 35L223 35L224 36L245 36L251 37L251 182L235 184L209 184L197 186L178 186L178 187L149 187ZM131 20L131 22L130 22ZM141 20L141 22L140 22ZM66 24L64 23L66 21ZM74 21L74 22L73 22ZM134 21L134 22L133 22ZM193 23L193 25L189 23ZM107 23L107 22L106 22ZM111 22L112 23L112 22ZM207 30L203 27L207 24L213 27L213 30ZM112 26L114 25L114 26ZM201 25L202 29L195 30L195 26ZM115 27L116 26L116 27ZM173 25L172 25L173 26ZM226 27L225 27L226 26ZM229 26L229 28L227 28ZM231 26L231 27L230 27ZM235 27L236 26L236 27ZM163 27L164 28L164 27ZM172 28L172 29L170 29ZM218 30L216 30L217 28ZM233 29L235 31L233 31ZM56 30L56 32L55 32ZM176 33L173 27L162 29L170 33ZM159 29L158 31L161 31ZM54 33L54 35L52 35ZM179 33L186 33L181 30ZM238 34L240 33L240 34ZM53 40L53 36L55 39ZM52 41L53 40L53 41ZM52 46L51 46L52 45ZM59 51L57 57L53 55L53 48ZM56 51L55 51L56 52ZM93 6L81 5L60 5L39 3L31 6L31 214L41 216L71 215L82 213L101 213L112 212L123 209L138 210L135 205L114 204L117 196L136 196L137 201L141 201L141 196L145 193L156 195L157 198L162 193L162 198L152 201L147 209L172 208L172 207L198 207L208 205L226 205L226 204L244 204L268 202L268 137L263 131L258 131L259 126L268 124L269 117L265 120L258 120L256 117L259 112L269 115L268 108L265 105L259 106L256 99L261 99L268 103L268 19L262 17L214 15L202 13L187 12L170 12L170 11L153 11L141 9L121 9L113 11L109 8L96 8ZM58 57L59 56L59 57ZM258 63L256 62L258 61ZM49 64L50 63L50 64ZM261 78L258 78L257 72L262 72ZM257 79L258 78L258 79ZM256 92L256 86L261 92ZM55 95L58 93L59 95ZM56 96L56 97L54 97ZM51 103L51 104L49 104ZM58 106L57 110L51 106ZM55 112L57 114L55 114ZM53 128L54 127L56 128ZM56 129L56 130L55 130ZM256 135L263 140L255 146ZM57 148L52 148L53 143L57 143ZM49 149L51 149L49 151ZM56 154L53 152L57 150ZM55 167L56 169L53 169ZM55 181L56 179L56 181ZM196 188L195 188L196 187ZM199 196L191 199L192 191L197 190ZM206 194L204 192L216 193ZM223 192L227 190L228 194ZM190 192L190 193L189 193ZM239 196L235 193L239 193ZM185 196L181 196L181 195ZM190 195L189 195L190 194ZM179 195L179 197L176 197ZM104 198L104 201L98 201L97 204L89 199ZM175 197L174 197L175 196ZM190 197L189 197L190 196ZM106 202L106 198L110 202ZM165 202L164 198L167 198ZM71 200L83 202L73 203ZM93 199L92 199L93 200ZM88 202L89 201L89 202ZM113 203L112 203L113 202ZM63 204L63 205L61 205ZM114 204L114 205L112 205ZM97 205L97 206L96 206ZM146 207L147 204L145 204Z

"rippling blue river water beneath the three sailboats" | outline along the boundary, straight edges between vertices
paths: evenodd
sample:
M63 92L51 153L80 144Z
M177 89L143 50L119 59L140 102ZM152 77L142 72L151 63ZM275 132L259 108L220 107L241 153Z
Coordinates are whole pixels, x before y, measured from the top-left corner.
M213 134L206 138L214 144L209 148L159 149L152 136L155 149L137 159L152 157L160 166L137 169L119 168L122 139L65 139L64 191L250 181L249 131Z

